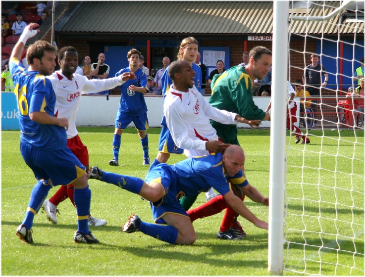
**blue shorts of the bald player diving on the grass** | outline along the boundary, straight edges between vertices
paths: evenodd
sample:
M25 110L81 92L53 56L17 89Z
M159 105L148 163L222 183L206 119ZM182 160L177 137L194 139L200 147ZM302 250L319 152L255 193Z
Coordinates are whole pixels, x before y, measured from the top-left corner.
M162 217L167 214L179 214L189 217L180 204L180 197L183 196L177 188L177 176L168 164L156 165L146 175L145 182L156 182L163 186L165 195L157 202L150 203L152 216L156 224L166 224Z

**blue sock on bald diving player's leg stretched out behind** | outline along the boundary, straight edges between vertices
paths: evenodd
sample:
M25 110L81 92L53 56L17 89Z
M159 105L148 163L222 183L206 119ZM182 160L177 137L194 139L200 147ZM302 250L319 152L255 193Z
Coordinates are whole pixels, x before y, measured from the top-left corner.
M145 183L142 179L127 175L116 174L112 172L103 171L101 181L116 185L120 188L126 189L130 192L139 194L143 184Z

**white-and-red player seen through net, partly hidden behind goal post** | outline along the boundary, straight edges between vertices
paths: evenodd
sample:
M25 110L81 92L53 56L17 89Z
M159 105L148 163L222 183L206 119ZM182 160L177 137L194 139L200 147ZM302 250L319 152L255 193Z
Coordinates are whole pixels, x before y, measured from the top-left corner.
M299 143L301 138L303 138L301 144L311 143L311 140L308 139L297 126L294 125L294 123L297 122L296 114L297 114L298 106L297 106L297 103L295 101L293 101L296 93L295 93L292 85L290 85L290 83L288 81L286 81L286 90L288 92L288 94L287 94L288 102L287 102L287 109L286 109L286 128L289 129L291 132L294 132L295 143ZM270 103L268 104L265 112L268 112L270 109L271 109L271 100L270 100Z

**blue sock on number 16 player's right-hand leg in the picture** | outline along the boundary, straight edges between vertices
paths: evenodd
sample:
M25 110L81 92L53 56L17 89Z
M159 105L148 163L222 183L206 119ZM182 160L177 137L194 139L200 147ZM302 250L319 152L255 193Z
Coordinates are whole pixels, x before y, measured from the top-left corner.
M89 233L88 219L90 214L91 190L89 186L75 188L74 190L78 231L87 234Z

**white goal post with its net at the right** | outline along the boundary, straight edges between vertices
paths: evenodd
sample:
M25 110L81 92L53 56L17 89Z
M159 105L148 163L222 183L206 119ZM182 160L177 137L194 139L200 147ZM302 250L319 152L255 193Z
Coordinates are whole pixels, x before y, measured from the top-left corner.
M299 4L297 10L301 11L293 11L294 4ZM298 26L305 32L295 33ZM312 32L313 26L319 32ZM364 111L357 110L360 106L354 97L342 112L338 104L348 87L361 87L352 77L354 68L361 66L360 57L365 56L364 33L364 1L273 2L268 219L271 275L282 275L283 271L365 275ZM292 35L302 44L301 49L291 48ZM293 53L303 58L301 65L291 57ZM318 127L300 126L311 143L293 144L292 132L288 143L283 124L286 81L302 79L298 72L304 72L311 63L311 54L319 55L320 64L330 64L326 70L331 82L320 89L311 106L316 109ZM343 70L344 63L347 71ZM305 85L304 90L307 88ZM304 121L308 117L307 112L300 115Z

